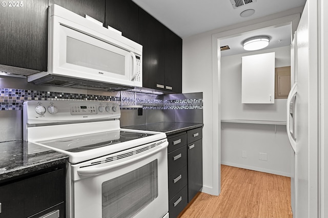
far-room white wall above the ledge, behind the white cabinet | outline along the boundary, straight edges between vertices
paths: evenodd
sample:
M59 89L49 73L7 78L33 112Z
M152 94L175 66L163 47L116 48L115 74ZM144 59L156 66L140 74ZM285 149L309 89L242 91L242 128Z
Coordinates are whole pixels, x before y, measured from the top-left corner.
M241 57L275 52L275 67L291 66L291 47L221 57L221 119L286 121L286 100L274 104L241 103Z

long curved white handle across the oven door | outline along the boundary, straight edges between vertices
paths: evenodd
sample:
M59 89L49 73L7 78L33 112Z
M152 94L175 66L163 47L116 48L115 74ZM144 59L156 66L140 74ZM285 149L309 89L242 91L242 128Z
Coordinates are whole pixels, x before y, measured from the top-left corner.
M126 165L126 164L130 164L132 162L138 161L140 159L150 157L150 156L156 154L157 152L167 148L168 145L169 145L169 143L168 143L168 141L166 141L165 143L161 144L161 146L159 148L157 148L156 150L153 150L151 152L147 152L146 154L141 155L137 158L133 158L133 159L130 159L128 161L123 161L123 162L120 162L120 163L117 163L117 164L112 164L112 165L108 165L108 166L104 166L104 167L95 167L97 165L94 165L94 166L90 166L90 167L79 168L77 170L77 174L79 176L84 176L84 177L96 176L96 175L104 173L104 172L106 172L110 169L120 167L120 166L123 166L123 165Z

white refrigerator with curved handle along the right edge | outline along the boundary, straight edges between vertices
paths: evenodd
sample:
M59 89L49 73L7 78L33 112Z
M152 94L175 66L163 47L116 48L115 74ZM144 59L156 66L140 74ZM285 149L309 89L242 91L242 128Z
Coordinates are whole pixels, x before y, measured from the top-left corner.
M327 28L322 25L326 22L322 17L322 7L327 6L323 4L327 4L327 1L306 2L291 47L292 88L287 101L286 127L294 150L291 158L294 217L328 217L324 215L326 199L321 194L326 183L322 178L324 74L321 64L324 63L324 52L321 51L321 43L322 32Z

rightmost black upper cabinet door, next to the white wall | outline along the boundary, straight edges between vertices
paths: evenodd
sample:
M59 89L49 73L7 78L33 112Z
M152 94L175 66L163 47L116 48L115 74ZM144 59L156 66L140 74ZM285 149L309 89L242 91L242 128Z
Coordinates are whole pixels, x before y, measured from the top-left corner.
M182 92L182 39L165 30L165 90Z

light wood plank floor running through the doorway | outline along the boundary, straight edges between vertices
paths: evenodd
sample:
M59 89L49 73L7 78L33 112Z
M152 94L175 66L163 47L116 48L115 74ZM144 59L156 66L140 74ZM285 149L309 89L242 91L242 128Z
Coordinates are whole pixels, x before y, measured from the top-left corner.
M180 213L185 217L293 217L291 179L221 165L221 193L198 193Z

